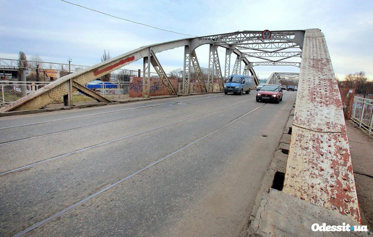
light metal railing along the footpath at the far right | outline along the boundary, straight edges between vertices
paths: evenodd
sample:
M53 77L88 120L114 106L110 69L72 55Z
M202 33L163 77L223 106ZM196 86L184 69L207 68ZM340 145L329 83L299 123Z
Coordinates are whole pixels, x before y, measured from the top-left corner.
M365 99L358 96L352 102L351 120L361 128L373 134L373 99Z

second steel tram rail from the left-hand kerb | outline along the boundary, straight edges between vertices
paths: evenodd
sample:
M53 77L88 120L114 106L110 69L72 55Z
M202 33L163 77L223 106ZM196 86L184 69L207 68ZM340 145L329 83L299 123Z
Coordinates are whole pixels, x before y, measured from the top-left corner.
M226 99L229 99L229 98L226 98ZM23 138L23 139L18 139L18 140L14 140L14 141L3 142L3 143L0 143L0 146L1 145L15 143L15 142L21 142L21 141L26 141L26 140L30 140L30 139L35 139L35 138L43 138L45 136L56 135L56 134L65 133L65 132L71 132L71 131L75 131L75 130L79 130L79 129L84 129L84 128L88 128L88 127L94 127L94 126L99 126L99 125L108 124L108 123L115 123L115 122L119 122L119 121L123 121L123 120L128 120L128 119L131 119L131 118L138 118L138 117L147 116L147 115L151 115L151 114L157 114L157 113L162 113L162 112L166 112L166 111L172 111L172 110L179 110L179 109L182 109L182 108L188 108L188 107L192 107L192 106L196 106L196 105L203 105L203 104L208 104L208 103L212 103L212 102L223 101L223 100L226 100L226 99L219 99L219 100L216 100L216 101L209 101L209 102L204 102L204 103L200 103L200 104L187 105L187 106L184 106L184 107L172 108L172 109L168 109L168 110L162 110L162 111L157 111L157 112L153 112L153 113L132 116L132 117L128 117L128 118L120 118L120 119L117 119L117 120L107 121L107 122L97 123L97 124L92 124L92 125L88 125L88 126L77 127L77 128L73 128L73 129L63 130L63 131L60 131L60 132L48 133L48 134L44 134L44 135L40 135L40 136L34 136L34 137L31 137L31 138Z

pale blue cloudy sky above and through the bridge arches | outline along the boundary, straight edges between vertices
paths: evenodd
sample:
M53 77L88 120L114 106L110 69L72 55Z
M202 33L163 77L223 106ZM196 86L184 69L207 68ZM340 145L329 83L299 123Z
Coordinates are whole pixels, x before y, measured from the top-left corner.
M69 0L111 15L194 36L238 30L303 30L325 34L334 71L365 71L373 79L373 1L144 1ZM0 57L22 50L44 61L93 65L104 49L117 56L140 46L185 38L82 9L60 0L0 0ZM165 71L182 67L182 48L158 54ZM197 50L201 67L208 46ZM232 55L233 56L233 55ZM222 57L222 56L221 56ZM223 59L223 58L221 58ZM295 61L295 60L294 60ZM142 68L140 61L125 68ZM257 66L260 78L296 67ZM153 70L154 71L154 70Z

